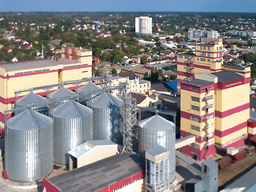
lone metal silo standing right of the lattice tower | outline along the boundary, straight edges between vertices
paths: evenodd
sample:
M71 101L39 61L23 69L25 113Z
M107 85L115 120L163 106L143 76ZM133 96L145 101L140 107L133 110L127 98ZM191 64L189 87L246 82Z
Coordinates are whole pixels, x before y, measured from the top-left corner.
M163 146L169 150L169 182L175 179L175 125L158 114L138 123L138 153L144 157L145 150Z

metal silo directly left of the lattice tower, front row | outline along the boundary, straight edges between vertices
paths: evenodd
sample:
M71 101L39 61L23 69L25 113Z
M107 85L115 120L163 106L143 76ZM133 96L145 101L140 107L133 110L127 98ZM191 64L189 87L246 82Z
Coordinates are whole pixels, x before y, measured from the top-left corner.
M91 100L91 109L94 111L94 140L111 140L122 144L122 135L119 132L122 126L119 113L121 106L123 106L121 99L107 93Z

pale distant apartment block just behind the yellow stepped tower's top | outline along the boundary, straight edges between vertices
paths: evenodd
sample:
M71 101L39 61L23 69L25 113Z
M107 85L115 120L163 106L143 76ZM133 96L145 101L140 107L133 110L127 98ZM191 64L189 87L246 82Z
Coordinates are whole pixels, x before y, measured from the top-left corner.
M218 38L219 33L216 30L196 30L195 28L190 28L188 30L188 38L198 39L201 38Z

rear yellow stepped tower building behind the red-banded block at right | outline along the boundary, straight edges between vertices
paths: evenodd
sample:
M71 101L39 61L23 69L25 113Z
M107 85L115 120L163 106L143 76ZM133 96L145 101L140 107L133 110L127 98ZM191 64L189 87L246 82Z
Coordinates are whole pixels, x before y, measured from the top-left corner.
M181 53L177 58L177 91L180 92L181 82L190 81L194 74L214 73L230 70L246 78L250 82L250 67L223 65L222 39L212 39L211 42L198 44L196 54Z

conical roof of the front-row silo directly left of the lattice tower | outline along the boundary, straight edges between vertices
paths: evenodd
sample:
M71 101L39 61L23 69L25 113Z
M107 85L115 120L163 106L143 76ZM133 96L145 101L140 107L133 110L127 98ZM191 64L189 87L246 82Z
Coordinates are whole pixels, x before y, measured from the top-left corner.
M94 108L109 109L114 107L123 106L123 102L120 98L113 96L112 94L101 94L91 100L91 106Z

